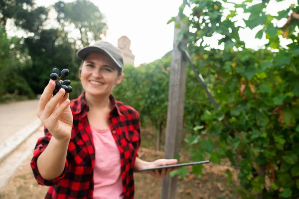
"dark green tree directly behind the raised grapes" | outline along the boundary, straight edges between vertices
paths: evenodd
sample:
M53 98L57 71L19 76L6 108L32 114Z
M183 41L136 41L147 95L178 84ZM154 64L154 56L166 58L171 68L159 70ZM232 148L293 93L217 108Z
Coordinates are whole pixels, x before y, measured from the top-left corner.
M77 79L79 65L73 61L73 49L64 36L63 32L57 29L48 29L42 30L38 37L25 39L33 64L30 69L23 71L23 76L30 80L30 87L37 94L43 92L53 68L67 68L70 71L67 78Z

